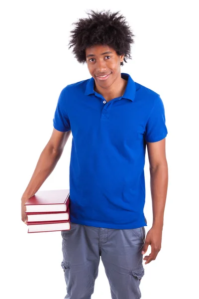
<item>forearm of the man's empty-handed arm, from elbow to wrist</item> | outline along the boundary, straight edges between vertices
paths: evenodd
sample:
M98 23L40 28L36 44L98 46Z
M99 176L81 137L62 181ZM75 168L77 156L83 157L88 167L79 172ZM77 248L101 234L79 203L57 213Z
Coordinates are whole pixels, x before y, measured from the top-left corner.
M151 197L153 207L153 226L163 227L164 210L168 188L167 162L150 168Z

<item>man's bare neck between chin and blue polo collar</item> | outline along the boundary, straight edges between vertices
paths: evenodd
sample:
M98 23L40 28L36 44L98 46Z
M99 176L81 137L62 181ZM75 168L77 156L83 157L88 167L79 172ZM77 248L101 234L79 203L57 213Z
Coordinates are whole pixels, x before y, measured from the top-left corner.
M94 90L101 94L106 102L121 97L124 94L127 81L121 78L121 74L117 76L115 81L107 88L102 88L95 83Z

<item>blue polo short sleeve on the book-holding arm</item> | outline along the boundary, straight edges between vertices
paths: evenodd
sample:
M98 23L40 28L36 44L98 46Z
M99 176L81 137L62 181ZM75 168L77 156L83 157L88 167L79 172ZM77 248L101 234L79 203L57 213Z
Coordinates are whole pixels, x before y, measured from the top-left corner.
M71 130L71 125L67 113L67 87L65 87L59 96L57 107L53 118L53 127L61 132Z

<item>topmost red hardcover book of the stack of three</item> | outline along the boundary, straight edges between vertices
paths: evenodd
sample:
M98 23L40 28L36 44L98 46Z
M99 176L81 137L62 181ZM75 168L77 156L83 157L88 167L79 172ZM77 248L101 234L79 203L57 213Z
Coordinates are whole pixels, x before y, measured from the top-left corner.
M42 190L25 203L26 213L66 212L70 203L69 189Z

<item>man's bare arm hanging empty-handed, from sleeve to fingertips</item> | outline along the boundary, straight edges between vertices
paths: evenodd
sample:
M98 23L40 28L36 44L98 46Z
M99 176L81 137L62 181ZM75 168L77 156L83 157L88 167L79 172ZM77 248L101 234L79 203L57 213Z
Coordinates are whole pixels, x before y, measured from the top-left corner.
M151 246L151 253L144 257L145 264L155 260L162 243L162 230L164 222L164 210L168 187L168 165L165 153L165 139L147 143L149 164L150 164L150 183L151 197L153 206L153 225L148 231L142 254Z

